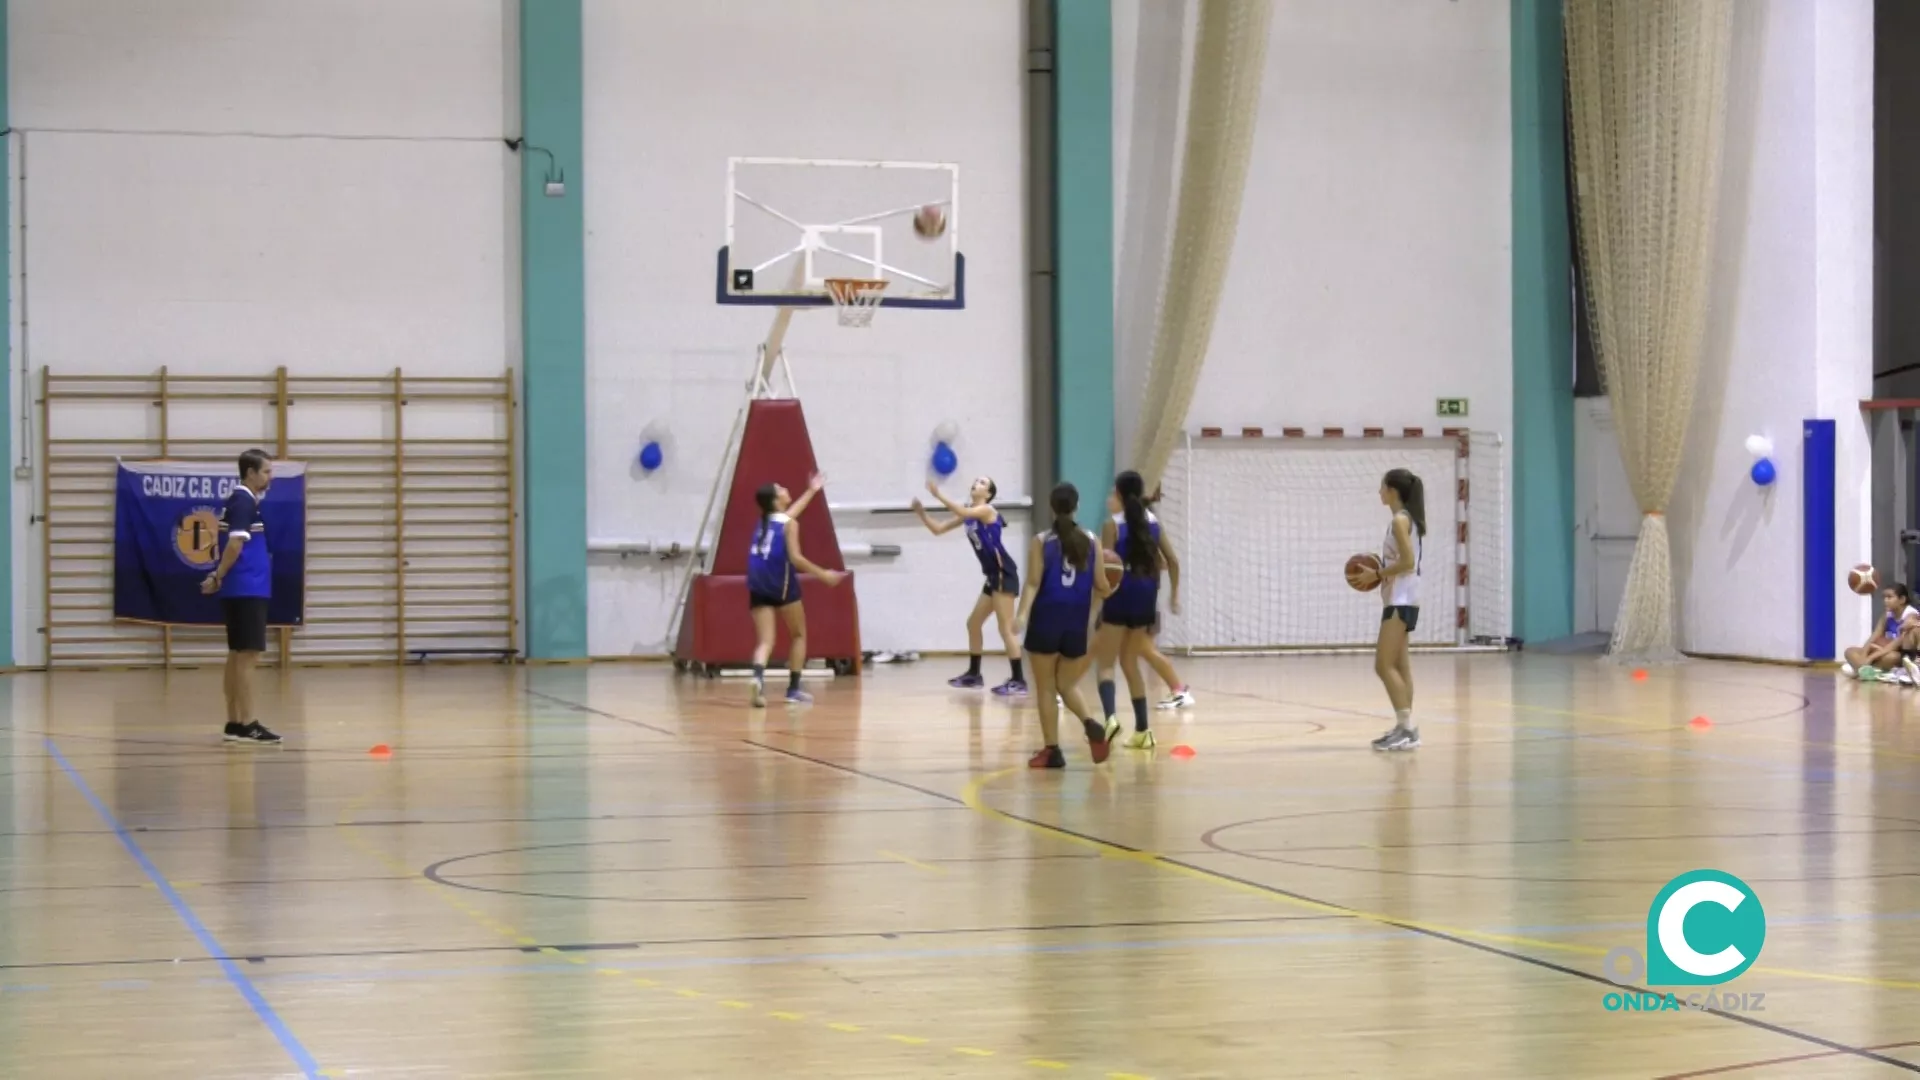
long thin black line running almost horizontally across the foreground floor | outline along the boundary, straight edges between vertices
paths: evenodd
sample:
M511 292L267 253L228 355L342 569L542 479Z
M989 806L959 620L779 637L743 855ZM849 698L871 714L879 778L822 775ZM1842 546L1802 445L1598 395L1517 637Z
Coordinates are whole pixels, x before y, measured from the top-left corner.
M336 951L307 951L307 953L265 953L255 957L238 957L248 963L269 963L269 961L324 961L324 959L384 959L384 957L428 957L428 955L486 955L486 953L538 953L541 947L553 947L563 953L566 951L601 951L601 949L647 949L647 947L668 947L668 945L743 945L743 944L781 944L781 942L845 942L845 940L864 940L881 938L887 942L897 942L902 938L945 938L962 934L1046 934L1060 930L1152 930L1160 926L1236 926L1236 924L1271 924L1271 922L1315 922L1327 919L1346 919L1344 915L1258 915L1258 917L1231 917L1231 919L1142 919L1142 920L1116 920L1116 922L1035 922L1018 926L933 926L933 928L910 928L910 930L816 930L806 934L735 934L722 938L641 938L637 942L564 942L551 945L442 945L442 947L417 947L417 949L336 949ZM194 963L215 963L213 957L129 957L129 959L109 959L109 961L40 961L40 963L10 963L0 965L0 970L84 970L96 967L140 967L140 965L194 965Z

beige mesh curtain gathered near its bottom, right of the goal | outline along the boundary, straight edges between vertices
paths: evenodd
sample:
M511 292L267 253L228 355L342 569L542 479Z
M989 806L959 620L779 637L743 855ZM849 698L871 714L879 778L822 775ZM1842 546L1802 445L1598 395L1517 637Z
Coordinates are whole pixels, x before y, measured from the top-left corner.
M1609 653L1672 663L1667 500L1693 411L1732 0L1567 0L1567 102L1586 302L1640 540Z

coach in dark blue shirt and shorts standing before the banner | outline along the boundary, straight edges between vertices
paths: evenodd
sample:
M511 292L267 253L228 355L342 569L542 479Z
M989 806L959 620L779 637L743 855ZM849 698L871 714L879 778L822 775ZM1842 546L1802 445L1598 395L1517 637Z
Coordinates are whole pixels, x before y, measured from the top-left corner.
M221 509L221 565L200 584L200 592L219 594L227 611L227 742L261 746L280 742L253 719L253 665L267 651L267 598L273 596L273 553L259 515L269 482L273 459L267 452L242 454L240 482Z

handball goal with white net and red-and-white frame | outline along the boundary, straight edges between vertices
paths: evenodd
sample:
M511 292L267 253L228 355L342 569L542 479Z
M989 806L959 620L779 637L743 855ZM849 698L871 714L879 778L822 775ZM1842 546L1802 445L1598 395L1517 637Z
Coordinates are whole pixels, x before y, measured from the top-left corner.
M1164 644L1265 651L1371 648L1380 596L1348 588L1350 555L1380 552L1380 477L1425 482L1415 646L1505 646L1507 484L1498 434L1188 436L1154 511L1181 557Z

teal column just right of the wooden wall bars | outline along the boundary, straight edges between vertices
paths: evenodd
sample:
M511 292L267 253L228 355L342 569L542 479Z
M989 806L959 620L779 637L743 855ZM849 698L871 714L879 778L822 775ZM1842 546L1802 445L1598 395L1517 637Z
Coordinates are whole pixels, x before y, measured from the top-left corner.
M580 0L520 2L526 655L588 655L588 348ZM549 160L551 154L551 160ZM566 194L545 194L564 173Z

